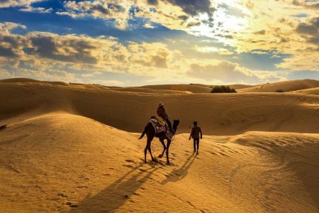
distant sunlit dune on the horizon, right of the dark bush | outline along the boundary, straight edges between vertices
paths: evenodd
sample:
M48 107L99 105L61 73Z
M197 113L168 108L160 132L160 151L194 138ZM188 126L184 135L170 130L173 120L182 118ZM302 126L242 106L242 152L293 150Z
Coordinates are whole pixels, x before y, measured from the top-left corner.
M293 80L285 82L276 82L271 84L261 84L255 87L238 89L237 92L276 92L277 89L283 90L284 92L291 92L300 89L309 89L313 87L319 87L319 81Z

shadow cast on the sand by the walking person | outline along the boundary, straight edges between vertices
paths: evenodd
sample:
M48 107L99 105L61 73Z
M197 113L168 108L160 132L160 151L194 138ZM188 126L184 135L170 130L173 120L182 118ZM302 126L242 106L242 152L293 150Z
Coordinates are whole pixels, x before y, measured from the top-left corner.
M183 178L188 173L189 167L194 162L196 158L195 153L193 153L189 158L187 158L186 162L181 166L181 168L178 168L177 170L172 170L169 174L167 174L167 178L161 182L162 185L166 184L167 182L177 182Z

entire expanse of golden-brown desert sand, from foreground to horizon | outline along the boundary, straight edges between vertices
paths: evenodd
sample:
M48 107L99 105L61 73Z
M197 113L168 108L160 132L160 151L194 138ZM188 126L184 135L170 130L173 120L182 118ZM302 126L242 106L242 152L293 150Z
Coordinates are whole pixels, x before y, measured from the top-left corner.
M318 81L274 84L285 92L1 80L1 212L319 212L319 96L301 90ZM158 102L181 121L170 165L143 163L138 140Z

